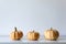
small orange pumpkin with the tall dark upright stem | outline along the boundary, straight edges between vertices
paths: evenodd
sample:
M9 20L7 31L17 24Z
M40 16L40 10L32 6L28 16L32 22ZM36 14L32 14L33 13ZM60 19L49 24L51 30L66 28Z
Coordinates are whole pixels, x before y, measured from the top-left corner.
M14 28L14 31L10 33L11 40L14 40L14 41L21 40L22 36L23 36L23 32L18 31L16 28Z

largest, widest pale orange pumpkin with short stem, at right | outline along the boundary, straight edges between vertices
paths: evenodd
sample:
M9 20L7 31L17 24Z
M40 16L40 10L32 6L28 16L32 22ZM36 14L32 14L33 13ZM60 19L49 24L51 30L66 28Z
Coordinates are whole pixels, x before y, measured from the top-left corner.
M59 36L59 33L57 30L54 30L53 28L51 28L51 30L46 30L44 32L44 36L45 36L45 40L56 41Z

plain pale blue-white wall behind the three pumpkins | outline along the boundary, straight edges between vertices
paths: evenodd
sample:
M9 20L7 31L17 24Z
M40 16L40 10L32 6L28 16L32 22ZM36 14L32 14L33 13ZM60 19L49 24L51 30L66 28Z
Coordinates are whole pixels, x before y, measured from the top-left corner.
M66 35L66 0L0 0L0 35L13 28L44 34L51 26Z

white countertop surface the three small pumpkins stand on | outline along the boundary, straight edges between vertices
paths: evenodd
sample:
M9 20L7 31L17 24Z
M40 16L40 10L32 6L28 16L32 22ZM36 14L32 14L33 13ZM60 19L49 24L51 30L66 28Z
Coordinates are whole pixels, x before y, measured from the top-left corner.
M66 36L59 36L59 38L57 41L45 41L44 36L41 36L38 41L28 41L28 38L25 36L23 36L23 38L21 41L12 41L8 35L0 35L0 43L14 43L14 44L43 44L43 43L58 43L58 44L64 44L66 43Z

